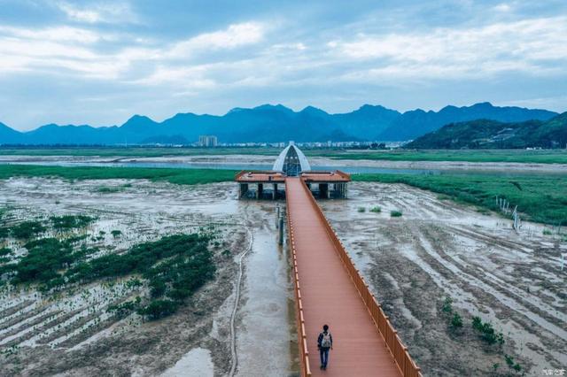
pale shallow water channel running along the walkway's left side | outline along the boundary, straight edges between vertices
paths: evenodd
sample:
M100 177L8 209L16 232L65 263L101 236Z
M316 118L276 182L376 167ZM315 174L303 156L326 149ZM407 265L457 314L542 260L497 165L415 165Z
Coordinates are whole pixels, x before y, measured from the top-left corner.
M276 203L240 201L252 220L252 253L245 261L245 304L237 326L238 376L285 376L290 371L288 257L277 244ZM283 202L279 204L283 205ZM269 365L269 369L266 369ZM261 372L260 372L261 371Z

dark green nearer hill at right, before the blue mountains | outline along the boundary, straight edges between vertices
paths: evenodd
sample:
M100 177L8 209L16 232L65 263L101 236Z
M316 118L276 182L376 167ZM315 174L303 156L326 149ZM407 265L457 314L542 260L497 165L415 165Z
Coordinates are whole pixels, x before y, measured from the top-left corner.
M567 112L549 119L503 123L479 119L452 123L409 142L414 149L567 148Z

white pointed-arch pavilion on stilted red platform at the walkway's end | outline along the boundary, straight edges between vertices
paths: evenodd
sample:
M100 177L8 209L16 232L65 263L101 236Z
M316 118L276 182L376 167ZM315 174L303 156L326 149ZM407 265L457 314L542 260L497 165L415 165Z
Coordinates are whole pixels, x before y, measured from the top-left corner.
M285 178L299 177L317 197L346 198L346 184L351 181L347 173L341 171L323 172L311 170L305 154L290 142L276 158L272 170L242 171L237 173L236 181L240 185L239 197L285 197ZM278 186L282 183L281 186ZM270 187L271 186L271 187ZM255 189L254 189L255 188Z

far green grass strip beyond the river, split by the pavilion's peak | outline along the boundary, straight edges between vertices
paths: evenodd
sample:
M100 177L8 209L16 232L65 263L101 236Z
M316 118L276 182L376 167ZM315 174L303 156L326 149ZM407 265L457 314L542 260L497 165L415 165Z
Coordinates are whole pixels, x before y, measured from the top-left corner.
M0 148L2 156L87 156L105 158L143 158L211 155L277 156L277 148ZM340 148L303 149L310 157L333 159L370 159L386 161L469 161L567 164L567 150L344 150Z

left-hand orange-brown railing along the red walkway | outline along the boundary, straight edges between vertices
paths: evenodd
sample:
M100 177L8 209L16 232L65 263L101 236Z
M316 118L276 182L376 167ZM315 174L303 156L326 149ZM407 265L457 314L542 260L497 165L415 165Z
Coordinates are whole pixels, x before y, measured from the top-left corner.
M301 376L310 377L309 351L307 350L307 334L305 332L305 318L303 316L303 303L301 301L301 289L299 287L298 259L295 251L293 235L293 224L290 219L290 205L285 203L287 213L288 242L291 249L291 261L293 263L293 290L295 291L296 322L298 327L299 358L301 364Z

